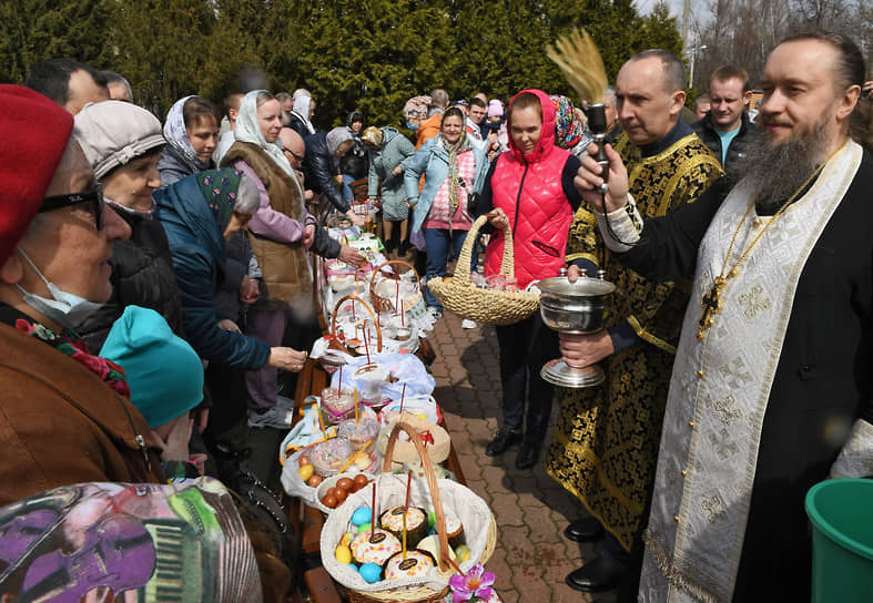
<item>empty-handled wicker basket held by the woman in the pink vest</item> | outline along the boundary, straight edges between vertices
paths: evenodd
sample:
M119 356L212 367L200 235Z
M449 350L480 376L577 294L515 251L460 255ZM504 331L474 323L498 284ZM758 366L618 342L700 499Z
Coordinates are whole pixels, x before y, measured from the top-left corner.
M504 292L483 289L470 282L470 258L476 235L488 218L479 216L470 226L464 247L460 249L455 276L453 278L434 277L428 279L427 288L444 307L461 318L469 318L485 325L512 325L528 318L539 309L539 295L530 292ZM512 233L509 226L504 228L504 257L500 262L500 274L515 278L515 255L512 251Z

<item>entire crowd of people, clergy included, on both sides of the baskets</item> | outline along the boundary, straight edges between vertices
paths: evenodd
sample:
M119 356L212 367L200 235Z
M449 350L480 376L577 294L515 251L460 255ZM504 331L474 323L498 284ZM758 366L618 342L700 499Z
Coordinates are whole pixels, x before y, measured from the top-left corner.
M224 115L189 95L162 125L116 73L34 64L0 85L0 504L222 477L222 428L287 429L283 385L318 336L307 254L364 262L326 225L364 225L349 185L366 181L435 318L427 279L479 216L471 270L498 274L511 237L519 288L561 268L616 285L595 334L538 313L495 329L486 454L518 444L516 466L535 467L557 398L546 469L582 518L565 534L603 540L571 587L809 600L804 493L873 476L865 76L850 39L810 33L770 54L757 115L741 68L714 71L694 114L681 60L648 50L602 99L434 89L396 124L354 110L323 132L306 89L233 91ZM589 103L606 105L608 174ZM606 381L556 390L540 367L557 356Z

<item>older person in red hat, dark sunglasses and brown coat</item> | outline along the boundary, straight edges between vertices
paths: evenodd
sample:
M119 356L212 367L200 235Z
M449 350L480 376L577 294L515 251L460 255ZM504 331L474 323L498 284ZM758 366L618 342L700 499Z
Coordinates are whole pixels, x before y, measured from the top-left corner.
M130 228L104 207L72 115L13 85L0 105L0 504L75 482L160 482L124 371L69 328L109 298L111 243Z

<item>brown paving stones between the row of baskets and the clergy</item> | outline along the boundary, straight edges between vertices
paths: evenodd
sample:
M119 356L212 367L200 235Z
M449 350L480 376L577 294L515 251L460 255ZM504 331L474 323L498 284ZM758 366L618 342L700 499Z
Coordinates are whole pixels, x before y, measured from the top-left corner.
M564 538L568 523L585 514L581 503L552 480L542 464L516 469L518 448L504 458L485 454L500 418L500 375L494 327L460 328L460 318L446 311L430 339L437 358L430 367L434 397L467 484L483 497L497 520L497 548L487 563L497 574L496 589L506 603L615 603L615 593L590 595L567 586L564 578L592 560L600 544ZM557 419L552 408L545 457Z

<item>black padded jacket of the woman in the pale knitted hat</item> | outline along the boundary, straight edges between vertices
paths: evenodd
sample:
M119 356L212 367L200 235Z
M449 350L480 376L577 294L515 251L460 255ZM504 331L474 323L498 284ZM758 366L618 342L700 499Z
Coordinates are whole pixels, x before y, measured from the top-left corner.
M166 319L173 333L184 337L182 300L179 296L170 244L160 222L118 209L131 227L126 241L112 244L112 297L102 308L77 325L88 348L98 354L112 324L121 318L126 306L151 308Z

